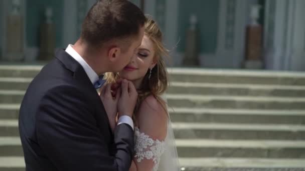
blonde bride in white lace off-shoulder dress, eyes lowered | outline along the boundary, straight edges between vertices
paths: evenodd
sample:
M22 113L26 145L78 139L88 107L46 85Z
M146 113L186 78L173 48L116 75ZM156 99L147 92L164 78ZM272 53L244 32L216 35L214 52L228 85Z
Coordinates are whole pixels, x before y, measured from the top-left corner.
M180 167L174 133L166 98L162 97L168 87L162 56L168 56L168 51L162 43L162 32L153 19L146 18L144 28L141 45L129 64L118 73L106 73L106 79L112 83L114 93L119 93L119 84L115 82L121 78L130 80L138 92L132 118L135 147L129 171L177 171ZM108 117L114 129L116 116Z

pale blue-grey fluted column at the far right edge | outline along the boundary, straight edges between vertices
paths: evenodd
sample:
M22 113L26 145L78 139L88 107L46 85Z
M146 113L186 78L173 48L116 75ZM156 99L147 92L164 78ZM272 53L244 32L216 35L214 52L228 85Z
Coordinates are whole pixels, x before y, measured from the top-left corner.
M265 6L266 68L305 70L305 0L266 0Z

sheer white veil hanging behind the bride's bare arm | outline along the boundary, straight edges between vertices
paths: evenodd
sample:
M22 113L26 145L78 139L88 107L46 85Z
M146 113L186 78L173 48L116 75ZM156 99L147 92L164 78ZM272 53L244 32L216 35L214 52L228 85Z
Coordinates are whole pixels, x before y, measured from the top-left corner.
M167 102L166 94L162 98ZM177 146L175 142L174 130L169 115L168 131L165 138L166 150L161 156L158 171L180 171Z

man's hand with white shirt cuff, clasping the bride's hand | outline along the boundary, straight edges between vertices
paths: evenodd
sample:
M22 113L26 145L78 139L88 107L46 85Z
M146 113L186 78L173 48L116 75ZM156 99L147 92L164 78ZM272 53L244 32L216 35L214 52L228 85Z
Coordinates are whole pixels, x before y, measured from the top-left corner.
M118 93L116 93L117 96ZM137 92L131 81L121 81L121 94L118 99L118 117L128 115L132 117L137 100Z

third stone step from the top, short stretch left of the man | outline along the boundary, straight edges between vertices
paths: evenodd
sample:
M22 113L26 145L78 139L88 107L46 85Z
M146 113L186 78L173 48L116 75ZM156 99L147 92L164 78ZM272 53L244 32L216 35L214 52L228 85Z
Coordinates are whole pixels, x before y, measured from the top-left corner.
M24 90L0 89L0 103L21 103Z

